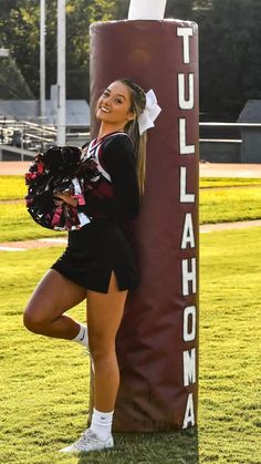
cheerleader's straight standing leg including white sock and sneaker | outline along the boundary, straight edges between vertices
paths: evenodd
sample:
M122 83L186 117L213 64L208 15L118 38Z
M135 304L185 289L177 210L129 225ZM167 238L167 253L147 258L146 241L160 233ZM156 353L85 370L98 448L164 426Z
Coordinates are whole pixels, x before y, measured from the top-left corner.
M127 291L119 291L112 272L107 293L87 290L88 346L94 364L94 412L91 427L63 453L113 447L113 410L119 383L115 338Z

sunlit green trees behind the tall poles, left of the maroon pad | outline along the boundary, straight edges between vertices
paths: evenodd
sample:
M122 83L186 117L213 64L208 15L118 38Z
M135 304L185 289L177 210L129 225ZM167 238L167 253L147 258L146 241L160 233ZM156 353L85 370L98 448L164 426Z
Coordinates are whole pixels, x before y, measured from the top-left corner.
M88 99L88 27L115 17L116 2L66 1L66 96ZM39 97L40 1L15 0L1 12L2 43L10 49L34 97ZM56 83L56 2L46 1L46 96Z

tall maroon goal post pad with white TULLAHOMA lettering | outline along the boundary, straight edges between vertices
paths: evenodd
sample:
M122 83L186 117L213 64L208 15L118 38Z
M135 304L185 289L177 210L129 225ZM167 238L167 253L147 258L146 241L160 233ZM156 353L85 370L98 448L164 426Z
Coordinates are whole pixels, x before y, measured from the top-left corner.
M128 295L117 334L121 385L113 427L187 429L197 424L198 411L197 24L92 24L93 136L97 97L119 78L153 89L161 113L148 131L140 215L128 226L140 285Z

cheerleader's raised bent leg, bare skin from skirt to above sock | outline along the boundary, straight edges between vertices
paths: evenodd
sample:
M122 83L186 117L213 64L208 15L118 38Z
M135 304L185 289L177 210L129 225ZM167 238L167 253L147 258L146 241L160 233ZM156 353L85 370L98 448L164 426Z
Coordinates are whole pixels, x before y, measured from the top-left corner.
M63 313L85 298L85 288L50 269L25 308L24 326L34 333L72 340L77 336L80 326Z

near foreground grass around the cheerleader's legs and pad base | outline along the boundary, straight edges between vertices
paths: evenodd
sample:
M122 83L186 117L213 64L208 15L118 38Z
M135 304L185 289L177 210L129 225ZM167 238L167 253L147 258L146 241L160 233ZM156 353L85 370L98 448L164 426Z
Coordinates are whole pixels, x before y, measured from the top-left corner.
M85 458L56 450L86 425L88 358L75 343L34 336L22 310L61 248L0 252L3 463L257 464L260 450L259 228L201 237L199 426L166 434L115 434ZM84 320L84 305L70 311Z

